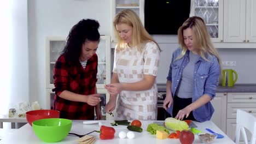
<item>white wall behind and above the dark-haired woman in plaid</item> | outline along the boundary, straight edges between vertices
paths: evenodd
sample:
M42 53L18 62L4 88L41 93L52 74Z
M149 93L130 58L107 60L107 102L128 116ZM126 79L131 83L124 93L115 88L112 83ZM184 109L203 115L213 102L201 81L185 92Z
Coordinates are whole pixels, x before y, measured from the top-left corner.
M28 0L30 100L45 107L45 37L65 36L78 21L95 19L110 35L110 1Z

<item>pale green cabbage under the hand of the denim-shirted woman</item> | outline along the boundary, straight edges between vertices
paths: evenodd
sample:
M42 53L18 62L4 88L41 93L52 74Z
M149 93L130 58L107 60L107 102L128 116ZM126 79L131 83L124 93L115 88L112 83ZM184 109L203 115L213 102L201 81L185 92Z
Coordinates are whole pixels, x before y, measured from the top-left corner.
M168 117L165 119L165 127L172 131L189 130L189 125L187 122L172 117Z

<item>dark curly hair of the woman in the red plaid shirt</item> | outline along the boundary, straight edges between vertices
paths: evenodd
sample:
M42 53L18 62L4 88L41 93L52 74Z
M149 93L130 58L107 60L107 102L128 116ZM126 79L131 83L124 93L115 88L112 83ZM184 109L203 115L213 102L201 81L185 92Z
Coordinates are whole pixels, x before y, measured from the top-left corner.
M72 63L79 62L82 45L86 40L100 41L99 27L98 21L91 19L80 20L72 27L67 37L67 44L62 51L67 61Z

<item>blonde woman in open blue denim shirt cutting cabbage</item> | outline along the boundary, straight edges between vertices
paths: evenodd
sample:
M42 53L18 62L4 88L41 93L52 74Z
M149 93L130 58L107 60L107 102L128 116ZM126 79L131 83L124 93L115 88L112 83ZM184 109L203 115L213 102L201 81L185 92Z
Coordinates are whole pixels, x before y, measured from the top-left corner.
M172 117L199 122L211 119L211 100L220 75L220 58L201 17L189 17L178 29L180 47L173 52L164 108Z

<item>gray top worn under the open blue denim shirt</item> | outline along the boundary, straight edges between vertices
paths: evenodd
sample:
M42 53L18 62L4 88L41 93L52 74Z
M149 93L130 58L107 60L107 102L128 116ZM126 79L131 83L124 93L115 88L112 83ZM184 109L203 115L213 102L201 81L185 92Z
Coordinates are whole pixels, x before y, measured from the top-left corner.
M199 60L199 55L189 52L189 62L182 72L181 81L177 88L176 95L179 98L192 98L194 86L194 69L195 63Z

